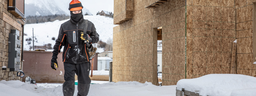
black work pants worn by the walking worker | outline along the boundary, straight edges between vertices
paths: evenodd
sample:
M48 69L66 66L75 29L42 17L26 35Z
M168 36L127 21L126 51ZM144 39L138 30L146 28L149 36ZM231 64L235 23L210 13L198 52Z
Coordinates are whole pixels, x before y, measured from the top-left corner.
M73 96L75 92L75 73L78 79L78 93L77 96L87 96L91 79L89 77L91 63L85 62L80 64L71 64L64 62L64 80L63 95Z

